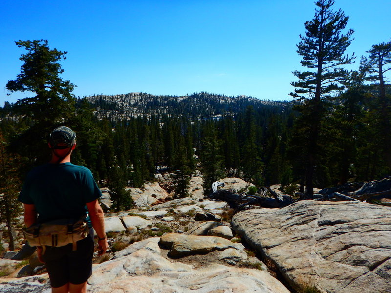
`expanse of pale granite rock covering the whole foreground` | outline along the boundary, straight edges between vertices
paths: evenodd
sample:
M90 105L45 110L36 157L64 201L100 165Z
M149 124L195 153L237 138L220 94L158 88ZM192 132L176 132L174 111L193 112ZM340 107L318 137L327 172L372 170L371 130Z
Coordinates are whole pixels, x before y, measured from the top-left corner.
M94 264L88 292L290 292L235 233L292 288L391 292L389 207L301 201L282 209L245 210L230 222L226 202L203 199L200 176L192 178L191 197L182 199L175 199L167 178L157 179L129 188L135 209L120 213L111 212L109 190L102 189L111 251L106 261ZM238 178L223 181L225 188L246 187ZM118 244L123 247L114 249ZM0 278L0 292L50 292L47 274L37 274L42 264L36 257L29 261L0 259L0 272L14 271ZM32 276L17 278L26 272Z

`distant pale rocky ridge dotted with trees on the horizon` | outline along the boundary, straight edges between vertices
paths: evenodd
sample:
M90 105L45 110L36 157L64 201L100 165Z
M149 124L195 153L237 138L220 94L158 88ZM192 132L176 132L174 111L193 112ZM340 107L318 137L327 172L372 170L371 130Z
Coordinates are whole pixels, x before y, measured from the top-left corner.
M191 119L216 118L224 114L244 111L247 106L255 110L269 108L277 111L289 105L288 102L262 101L244 95L230 97L207 92L186 96L156 96L147 93L121 95L93 95L85 97L96 109L99 119L129 119L131 117L173 117L186 116Z

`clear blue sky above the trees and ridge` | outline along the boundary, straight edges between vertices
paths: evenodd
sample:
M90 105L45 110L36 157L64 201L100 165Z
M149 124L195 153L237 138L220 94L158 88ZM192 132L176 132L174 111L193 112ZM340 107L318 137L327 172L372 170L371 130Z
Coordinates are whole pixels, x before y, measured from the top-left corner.
M391 37L391 0L335 0L360 56ZM1 0L0 105L23 53L14 41L47 39L68 51L63 79L76 96L193 92L290 100L296 53L313 0ZM28 95L27 95L28 96Z

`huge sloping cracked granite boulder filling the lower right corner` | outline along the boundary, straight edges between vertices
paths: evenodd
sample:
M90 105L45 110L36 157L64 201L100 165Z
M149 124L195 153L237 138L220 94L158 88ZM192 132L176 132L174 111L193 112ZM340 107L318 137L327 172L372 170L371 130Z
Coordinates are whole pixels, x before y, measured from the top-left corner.
M234 230L294 287L327 293L391 292L391 209L361 202L299 201L251 209Z

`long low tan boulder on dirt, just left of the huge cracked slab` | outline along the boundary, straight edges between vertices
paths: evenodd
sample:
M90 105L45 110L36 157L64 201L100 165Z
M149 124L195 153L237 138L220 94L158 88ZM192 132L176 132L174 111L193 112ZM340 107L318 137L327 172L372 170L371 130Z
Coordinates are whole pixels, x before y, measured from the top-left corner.
M176 236L180 235L180 236ZM212 251L222 251L235 248L235 245L224 238L213 236L188 236L183 234L167 234L160 238L159 245L171 248L169 255L173 258L194 254L207 254Z

